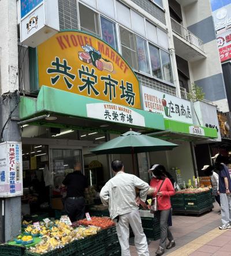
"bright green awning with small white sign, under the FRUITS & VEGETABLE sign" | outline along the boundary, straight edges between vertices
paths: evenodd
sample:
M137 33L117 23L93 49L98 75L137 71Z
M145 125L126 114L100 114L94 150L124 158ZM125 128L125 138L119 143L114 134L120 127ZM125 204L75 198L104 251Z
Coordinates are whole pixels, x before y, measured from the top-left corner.
M148 135L166 140L184 141L211 140L218 137L216 129L169 119L165 119L165 131L159 131Z

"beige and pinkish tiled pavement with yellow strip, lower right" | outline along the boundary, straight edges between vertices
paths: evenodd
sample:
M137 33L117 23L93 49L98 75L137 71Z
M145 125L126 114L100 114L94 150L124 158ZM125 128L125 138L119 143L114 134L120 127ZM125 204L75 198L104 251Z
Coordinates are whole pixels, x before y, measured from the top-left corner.
M214 203L213 211L199 217L192 215L174 215L171 231L176 247L166 250L169 256L231 256L231 230L220 231L221 215L219 206ZM152 241L148 248L150 256L155 255L159 241ZM135 246L130 246L131 255L137 256Z

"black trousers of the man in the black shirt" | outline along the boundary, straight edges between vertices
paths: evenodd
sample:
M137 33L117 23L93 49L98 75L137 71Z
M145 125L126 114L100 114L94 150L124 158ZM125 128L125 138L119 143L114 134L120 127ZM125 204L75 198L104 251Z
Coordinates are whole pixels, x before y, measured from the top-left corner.
M84 198L66 198L64 202L64 209L71 222L79 221L83 219L85 214L85 200Z

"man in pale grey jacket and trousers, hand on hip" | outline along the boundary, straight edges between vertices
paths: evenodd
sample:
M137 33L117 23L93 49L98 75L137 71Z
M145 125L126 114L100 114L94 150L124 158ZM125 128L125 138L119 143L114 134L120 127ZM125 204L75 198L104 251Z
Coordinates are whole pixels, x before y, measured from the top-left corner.
M139 206L136 201L136 188L140 189L140 200L145 202L149 185L132 174L124 173L121 160L114 160L111 168L116 174L100 192L100 199L109 206L110 217L116 222L121 255L130 256L129 224L135 235L135 246L138 255L149 256L148 244L141 225Z

